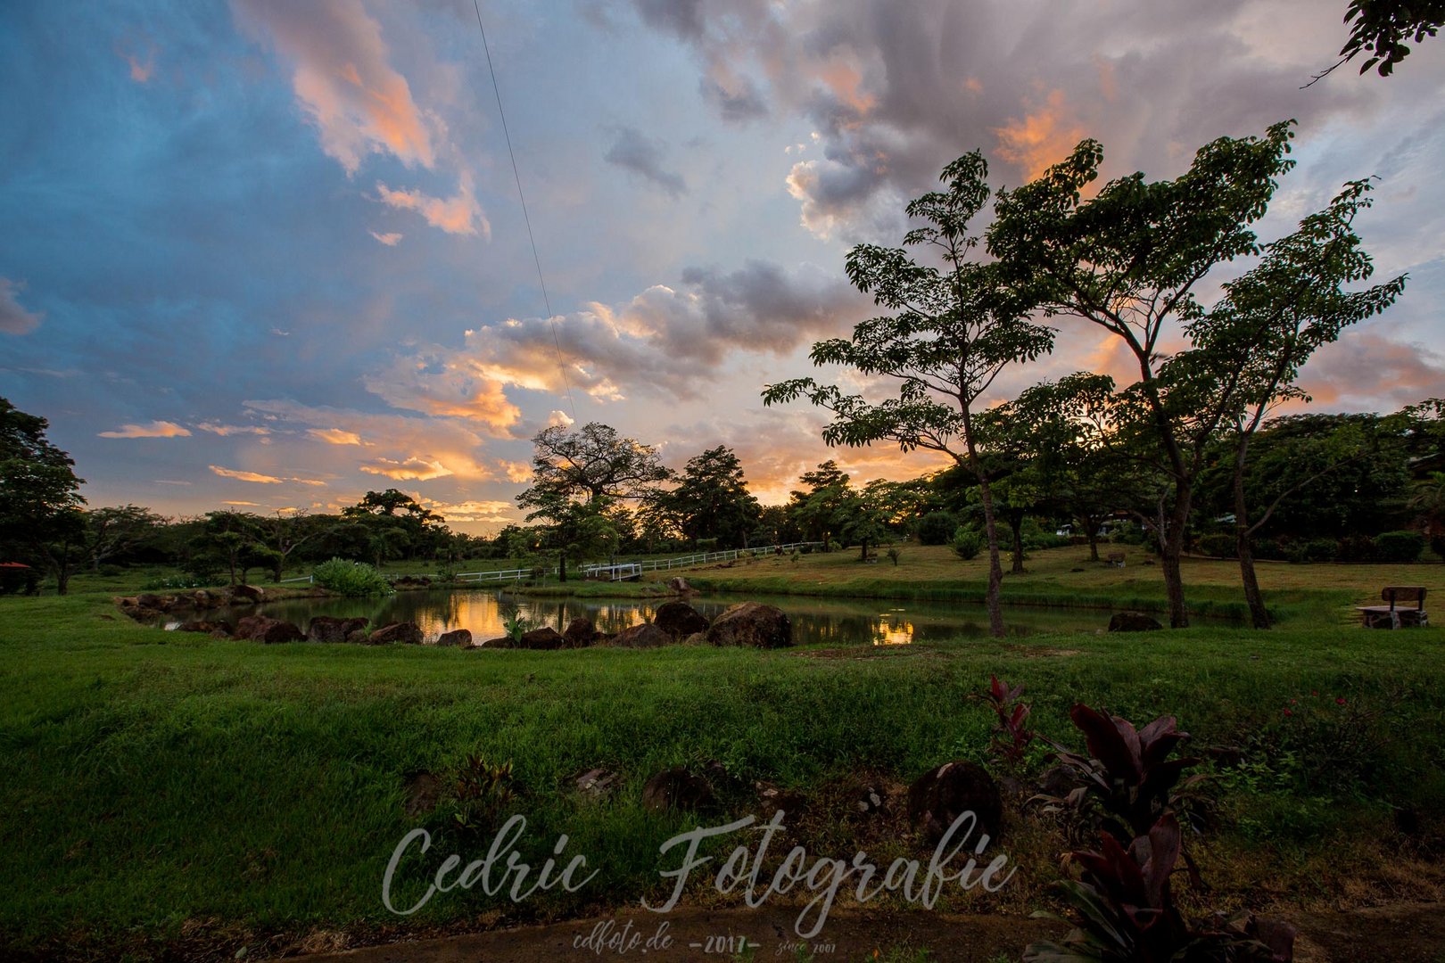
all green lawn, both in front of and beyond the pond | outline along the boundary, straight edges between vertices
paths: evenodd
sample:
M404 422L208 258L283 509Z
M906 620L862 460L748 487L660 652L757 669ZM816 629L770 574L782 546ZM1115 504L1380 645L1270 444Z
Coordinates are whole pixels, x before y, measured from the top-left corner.
M1006 596L1162 601L1157 567L1136 553L1124 569L1081 563L1081 549L1038 553L1029 575L1006 579ZM834 553L688 578L770 593L961 598L981 585L981 565L906 547L896 567ZM754 811L754 780L806 797L789 826L812 855L926 860L929 847L900 833L896 813L868 823L850 807L863 784L896 800L948 759L991 764L993 715L972 697L990 673L1025 684L1030 722L1075 748L1068 709L1082 700L1137 723L1172 713L1195 749L1243 751L1246 765L1214 781L1218 826L1198 845L1214 889L1181 884L1191 905L1439 895L1445 629L1367 632L1350 605L1383 585L1441 591L1445 566L1260 573L1285 615L1272 632L1075 632L903 651L263 647L134 625L100 592L0 598L0 947L36 959L159 959L192 946L254 956L318 930L373 938L660 901L659 871L675 860L659 859L659 845L699 820ZM1231 563L1192 560L1185 576L1194 605L1225 606L1237 593ZM434 810L407 814L416 774L445 790L468 757L510 761L514 798L470 826L445 793ZM1045 757L1035 751L1032 774ZM650 775L708 759L737 780L720 810L657 816L642 806ZM591 767L617 772L611 798L572 788ZM566 833L566 852L601 873L574 895L517 904L473 889L412 917L381 905L387 860L410 829L426 827L435 843L403 860L403 894L441 855L483 856L512 811L529 820L525 859L539 863ZM1020 865L1014 882L945 908L1049 905L1064 830L1014 813L1003 847ZM689 899L720 899L698 882Z

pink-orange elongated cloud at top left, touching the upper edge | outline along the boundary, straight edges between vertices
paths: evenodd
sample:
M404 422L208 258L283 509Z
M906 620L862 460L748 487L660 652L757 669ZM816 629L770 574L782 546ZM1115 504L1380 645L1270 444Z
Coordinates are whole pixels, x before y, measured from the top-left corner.
M348 175L368 153L406 166L436 159L432 121L389 62L381 26L350 0L233 0L237 20L293 66L292 90L316 126L321 149Z

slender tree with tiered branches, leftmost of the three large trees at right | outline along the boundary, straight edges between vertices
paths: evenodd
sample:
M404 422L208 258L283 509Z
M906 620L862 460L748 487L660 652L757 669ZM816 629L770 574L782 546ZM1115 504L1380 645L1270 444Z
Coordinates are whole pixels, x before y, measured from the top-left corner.
M834 413L824 429L829 445L894 442L944 452L978 481L988 540L988 622L1003 635L998 533L993 491L974 427L981 397L1007 365L1033 361L1053 347L1053 332L1027 318L997 264L971 260L978 237L970 222L988 201L983 154L964 154L944 169L945 191L912 201L906 212L925 222L903 243L923 245L942 267L922 264L902 248L860 244L848 253L848 279L889 312L857 325L851 339L814 345L816 365L840 364L897 383L897 397L871 403L837 385L796 378L767 385L763 401L806 397Z

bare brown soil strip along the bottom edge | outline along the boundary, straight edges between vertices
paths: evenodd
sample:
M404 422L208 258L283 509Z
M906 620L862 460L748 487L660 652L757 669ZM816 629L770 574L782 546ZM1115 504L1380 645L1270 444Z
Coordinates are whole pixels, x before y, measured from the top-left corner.
M1056 921L1027 917L835 910L818 937L802 940L793 934L796 912L796 908L788 907L679 907L666 915L656 915L639 908L614 917L314 953L299 959L305 963L542 963L623 957L668 963L737 959L762 963L806 960L811 953L816 963L873 959L990 963L996 959L1017 960L1029 943L1058 938L1068 928ZM1445 904L1413 902L1350 912L1280 915L1299 927L1296 963L1445 960ZM662 938L670 940L666 947L660 946ZM741 938L749 944L743 951ZM649 940L653 941L650 949ZM634 946L618 949L627 943ZM801 956L796 950L799 944L806 944ZM926 949L929 953L913 957L907 953L910 949ZM880 956L874 957L874 951Z

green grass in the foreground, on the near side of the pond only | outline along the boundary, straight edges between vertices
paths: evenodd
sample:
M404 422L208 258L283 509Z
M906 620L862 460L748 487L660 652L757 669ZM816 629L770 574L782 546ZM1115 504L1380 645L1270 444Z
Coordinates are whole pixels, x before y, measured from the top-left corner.
M949 758L983 761L991 715L970 696L990 673L1025 683L1032 720L1071 744L1075 700L1140 722L1178 715L1204 745L1254 733L1280 772L1230 790L1250 826L1234 839L1296 852L1302 866L1342 827L1380 830L1392 807L1438 820L1445 798L1442 629L1071 634L824 658L263 647L114 615L95 595L0 599L0 934L23 947L77 934L152 946L194 921L397 924L380 879L410 827L439 835L434 853L481 855L445 807L405 814L406 777L448 777L473 754L514 764L529 856L565 832L568 852L603 875L520 908L448 894L407 925L630 904L660 894L657 846L692 824L640 806L656 771L720 759L744 781L811 791L854 772L907 781ZM1312 690L1347 697L1351 715L1283 716ZM1341 758L1345 744L1355 755ZM592 765L621 774L613 801L565 790ZM1056 872L1045 862L1033 872Z

